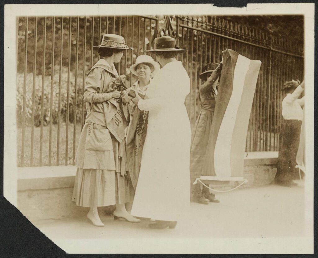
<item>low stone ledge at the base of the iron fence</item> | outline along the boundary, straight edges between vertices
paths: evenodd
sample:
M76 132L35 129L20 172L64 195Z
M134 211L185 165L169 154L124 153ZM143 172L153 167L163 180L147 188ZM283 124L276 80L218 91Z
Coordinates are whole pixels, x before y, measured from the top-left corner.
M275 152L245 153L244 178L247 184L239 188L257 187L272 182ZM88 208L72 202L75 166L17 168L17 205L31 221L85 217ZM237 186L238 181L213 181L210 187L221 191ZM208 182L209 184L209 182ZM111 214L114 206L100 207L100 212Z

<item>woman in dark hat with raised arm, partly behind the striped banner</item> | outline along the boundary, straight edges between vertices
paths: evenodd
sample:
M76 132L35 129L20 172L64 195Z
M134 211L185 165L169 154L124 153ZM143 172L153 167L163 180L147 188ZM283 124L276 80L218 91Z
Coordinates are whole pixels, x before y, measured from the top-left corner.
M218 79L222 70L222 63L208 63L199 75L204 82L199 90L200 113L197 117L191 141L190 175L191 175L191 199L200 204L219 202L209 189L201 184L192 185L202 173L205 152L211 132L214 108L218 94Z

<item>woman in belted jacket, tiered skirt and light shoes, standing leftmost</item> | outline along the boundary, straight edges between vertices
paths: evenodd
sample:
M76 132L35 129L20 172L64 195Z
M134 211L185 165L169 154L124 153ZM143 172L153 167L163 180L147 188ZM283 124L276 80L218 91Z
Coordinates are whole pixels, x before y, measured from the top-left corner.
M105 34L96 47L101 59L86 79L87 115L75 157L73 201L90 207L87 218L95 226L104 226L97 207L110 205L116 205L115 219L138 222L125 209L125 202L129 201L124 148L127 122L122 102L118 101L121 92L111 86L119 76L114 63L120 62L123 51L132 48L116 34Z

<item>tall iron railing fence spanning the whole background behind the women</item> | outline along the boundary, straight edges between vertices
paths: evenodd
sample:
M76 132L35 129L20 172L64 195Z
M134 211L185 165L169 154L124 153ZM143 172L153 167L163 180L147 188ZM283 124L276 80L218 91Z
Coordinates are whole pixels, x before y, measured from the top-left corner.
M199 112L199 73L219 62L226 48L262 61L250 117L247 151L278 150L281 86L302 78L302 49L283 39L222 17L18 17L17 124L18 166L74 164L80 130L85 122L83 92L86 72L98 60L93 46L105 33L125 37L134 51L117 64L128 85L136 78L129 66L158 35L170 35L188 49L180 56L191 80L187 96L191 126Z

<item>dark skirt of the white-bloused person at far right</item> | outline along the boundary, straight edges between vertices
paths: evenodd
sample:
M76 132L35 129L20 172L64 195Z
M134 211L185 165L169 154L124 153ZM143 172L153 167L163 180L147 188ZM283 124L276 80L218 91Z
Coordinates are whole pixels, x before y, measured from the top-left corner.
M278 168L276 181L290 181L298 179L296 166L296 154L299 146L301 121L285 120L279 135Z

